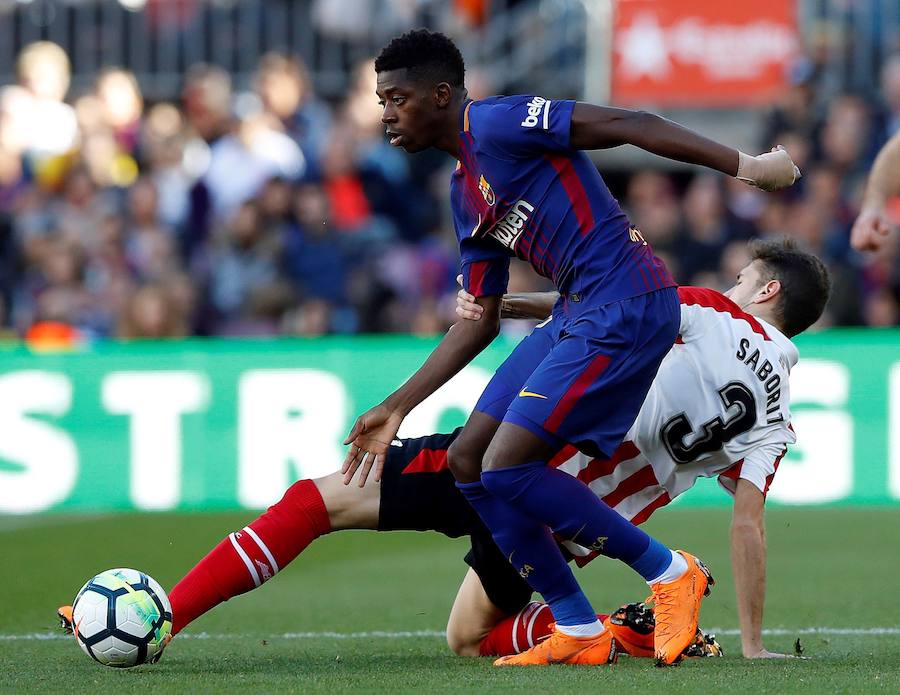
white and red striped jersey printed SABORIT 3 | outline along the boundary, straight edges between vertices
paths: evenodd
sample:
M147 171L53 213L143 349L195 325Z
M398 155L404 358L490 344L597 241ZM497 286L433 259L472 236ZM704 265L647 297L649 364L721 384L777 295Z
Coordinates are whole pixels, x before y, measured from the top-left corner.
M638 524L700 477L718 476L732 494L744 478L765 493L796 441L794 344L719 292L678 292L680 334L624 443L609 459L567 447L552 462Z

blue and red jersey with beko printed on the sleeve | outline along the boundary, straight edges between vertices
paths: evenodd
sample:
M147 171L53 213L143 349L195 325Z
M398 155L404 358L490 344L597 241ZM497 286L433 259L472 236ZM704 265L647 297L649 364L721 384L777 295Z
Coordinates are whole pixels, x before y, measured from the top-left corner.
M506 291L516 256L591 306L674 280L588 156L569 143L574 101L539 96L469 101L450 182L463 284Z

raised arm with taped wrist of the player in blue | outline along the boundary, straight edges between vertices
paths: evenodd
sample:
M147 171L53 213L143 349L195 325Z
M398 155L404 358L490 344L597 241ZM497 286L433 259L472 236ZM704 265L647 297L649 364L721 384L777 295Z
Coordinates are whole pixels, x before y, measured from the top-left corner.
M753 157L645 111L579 102L572 112L570 145L579 150L634 145L668 159L702 164L766 191L786 188L800 178L783 148Z

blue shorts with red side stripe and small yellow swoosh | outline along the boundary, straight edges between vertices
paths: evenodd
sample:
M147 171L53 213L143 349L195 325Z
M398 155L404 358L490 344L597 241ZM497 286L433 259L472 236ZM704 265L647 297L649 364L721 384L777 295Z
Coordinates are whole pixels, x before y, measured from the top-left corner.
M678 336L678 291L669 287L583 311L554 310L500 366L475 410L609 457L640 412Z

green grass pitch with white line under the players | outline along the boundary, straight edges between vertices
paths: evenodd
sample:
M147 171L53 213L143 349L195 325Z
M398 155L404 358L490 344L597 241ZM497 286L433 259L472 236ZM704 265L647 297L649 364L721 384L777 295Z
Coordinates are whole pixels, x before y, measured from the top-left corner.
M262 589L198 620L154 666L106 669L55 635L55 608L95 572L135 567L171 587L252 516L0 519L0 692L900 692L896 509L769 511L766 643L793 651L799 637L807 661L739 658L723 509L673 509L648 524L700 554L718 580L701 624L720 630L727 656L677 668L622 658L500 670L453 656L439 633L466 544L433 534L320 539ZM598 610L645 596L617 563L598 560L578 576Z

